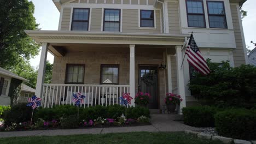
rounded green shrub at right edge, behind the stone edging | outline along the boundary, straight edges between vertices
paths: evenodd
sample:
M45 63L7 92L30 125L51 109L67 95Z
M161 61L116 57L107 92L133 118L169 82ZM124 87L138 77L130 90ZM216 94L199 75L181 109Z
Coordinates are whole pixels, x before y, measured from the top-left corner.
M256 110L230 109L215 115L216 130L234 139L256 139Z

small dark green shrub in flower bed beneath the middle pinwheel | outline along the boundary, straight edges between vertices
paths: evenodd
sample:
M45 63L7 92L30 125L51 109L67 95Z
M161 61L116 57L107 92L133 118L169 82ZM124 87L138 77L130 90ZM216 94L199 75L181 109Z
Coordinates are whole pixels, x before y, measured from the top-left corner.
M79 122L78 122L77 116L70 115L68 117L61 118L60 119L60 125L63 129L78 128L79 127Z

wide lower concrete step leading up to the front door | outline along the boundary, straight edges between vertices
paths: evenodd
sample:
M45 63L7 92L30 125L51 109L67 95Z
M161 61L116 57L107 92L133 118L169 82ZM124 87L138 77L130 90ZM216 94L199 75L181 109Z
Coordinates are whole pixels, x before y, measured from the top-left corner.
M174 121L182 121L183 115L177 115L177 114L151 114L150 115L152 119L158 119L158 120L174 120Z

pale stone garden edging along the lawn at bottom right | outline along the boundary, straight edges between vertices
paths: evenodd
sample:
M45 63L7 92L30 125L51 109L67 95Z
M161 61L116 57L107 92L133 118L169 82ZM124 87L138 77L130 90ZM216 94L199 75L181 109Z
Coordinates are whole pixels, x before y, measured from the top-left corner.
M211 134L206 134L206 133L201 133L199 131L193 131L193 130L184 130L185 134L188 135L193 135L195 137L199 137L201 139L208 139L208 140L219 140L222 141L223 143L232 143L234 142L235 144L256 144L256 141L246 141L246 140L234 140L230 137L224 137L224 136L213 136Z

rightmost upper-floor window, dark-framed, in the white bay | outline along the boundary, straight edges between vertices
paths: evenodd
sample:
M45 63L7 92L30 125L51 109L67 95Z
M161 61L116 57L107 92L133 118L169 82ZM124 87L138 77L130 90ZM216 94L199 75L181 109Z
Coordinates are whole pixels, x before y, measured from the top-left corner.
M207 1L210 28L228 28L224 2Z

